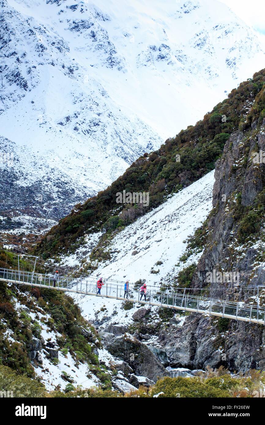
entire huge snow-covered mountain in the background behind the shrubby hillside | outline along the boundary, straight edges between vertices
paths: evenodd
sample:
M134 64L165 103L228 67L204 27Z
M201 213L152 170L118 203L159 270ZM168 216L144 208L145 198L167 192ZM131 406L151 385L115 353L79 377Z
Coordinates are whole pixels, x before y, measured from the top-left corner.
M35 229L107 187L264 63L254 32L218 1L1 6L1 210L20 223L38 218Z

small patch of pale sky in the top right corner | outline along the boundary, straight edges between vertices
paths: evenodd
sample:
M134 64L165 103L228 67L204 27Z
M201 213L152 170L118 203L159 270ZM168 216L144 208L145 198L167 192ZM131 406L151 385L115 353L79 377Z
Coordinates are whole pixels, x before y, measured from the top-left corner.
M219 0L227 4L243 21L265 34L265 0Z

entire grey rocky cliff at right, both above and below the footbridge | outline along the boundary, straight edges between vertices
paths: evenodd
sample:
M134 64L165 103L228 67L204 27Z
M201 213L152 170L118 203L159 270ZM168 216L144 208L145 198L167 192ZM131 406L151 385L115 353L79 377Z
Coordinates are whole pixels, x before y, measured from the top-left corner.
M227 299L246 300L251 288L264 284L265 164L255 160L265 150L265 121L260 122L254 119L248 130L239 126L217 161L213 210L206 221L208 238L191 283L194 288L209 287L206 272L214 269L239 272L237 288L225 292ZM233 284L213 282L210 286L211 294L218 296L218 289ZM160 334L171 365L223 365L231 371L265 367L264 326L190 314L182 327L171 328Z

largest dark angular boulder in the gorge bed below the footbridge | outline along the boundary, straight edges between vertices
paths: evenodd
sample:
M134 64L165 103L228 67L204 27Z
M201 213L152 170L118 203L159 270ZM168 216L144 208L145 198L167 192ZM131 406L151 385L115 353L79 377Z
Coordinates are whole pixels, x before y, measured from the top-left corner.
M168 376L168 372L153 352L132 335L125 334L122 337L114 338L107 345L107 350L128 362L137 376L148 376L154 382L161 377Z

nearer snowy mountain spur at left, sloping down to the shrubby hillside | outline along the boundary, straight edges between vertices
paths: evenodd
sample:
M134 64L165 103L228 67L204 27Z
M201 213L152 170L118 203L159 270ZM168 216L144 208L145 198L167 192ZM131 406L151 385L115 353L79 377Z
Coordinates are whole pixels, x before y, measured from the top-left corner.
M58 220L162 139L120 111L90 75L84 83L87 68L68 57L56 31L7 6L2 14L10 37L2 49L0 149L14 159L0 161L1 209Z

